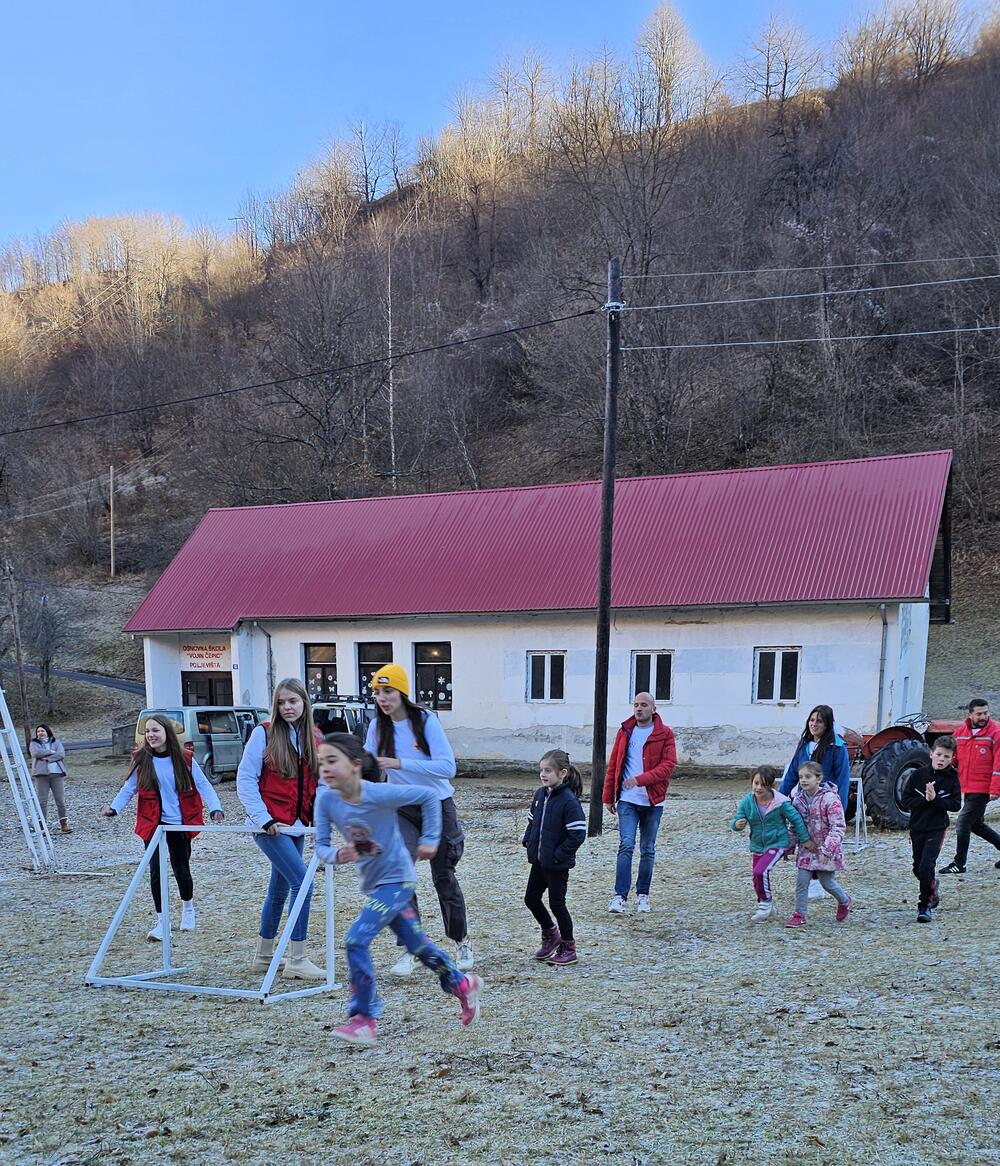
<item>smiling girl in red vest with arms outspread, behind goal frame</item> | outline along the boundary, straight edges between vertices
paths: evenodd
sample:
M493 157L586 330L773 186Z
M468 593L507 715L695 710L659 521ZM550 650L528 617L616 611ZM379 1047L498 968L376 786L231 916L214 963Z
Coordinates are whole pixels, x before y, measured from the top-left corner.
M135 833L146 843L153 842L156 827L200 826L203 806L207 805L213 822L225 817L218 795L197 761L188 761L169 717L153 712L146 718L142 749L135 754L132 772L118 796L101 809L104 817L117 817L138 796L135 803ZM168 833L167 850L170 866L181 892L181 930L195 929L195 883L191 879L191 833ZM159 848L157 848L159 849ZM147 939L162 940L164 922L160 897L160 855L149 862L149 890L156 907L156 922Z

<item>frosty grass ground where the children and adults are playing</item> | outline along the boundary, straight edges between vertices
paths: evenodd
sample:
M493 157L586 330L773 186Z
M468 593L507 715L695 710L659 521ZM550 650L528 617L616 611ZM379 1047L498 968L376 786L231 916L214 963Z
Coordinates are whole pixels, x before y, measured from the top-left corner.
M744 787L678 779L653 913L607 913L608 821L570 881L580 962L557 970L530 958L521 905L533 782L460 782L481 1021L463 1030L425 971L385 977L379 1045L351 1049L330 1037L343 992L261 1005L83 986L140 843L128 815L96 817L120 767L72 760L77 833L57 840L61 862L112 878L27 874L0 799L0 1161L1000 1164L1000 872L977 840L929 927L915 922L901 834L848 849L845 923L822 904L786 930L782 865L775 919L751 926L745 840L727 830ZM233 786L220 789L241 822ZM196 843L193 868L198 930L176 934L178 955L196 982L251 986L266 863L248 837L217 836ZM421 879L439 939L425 865ZM359 902L350 870L337 888L343 935ZM108 971L155 967L149 912L143 888ZM394 962L389 940L375 958Z

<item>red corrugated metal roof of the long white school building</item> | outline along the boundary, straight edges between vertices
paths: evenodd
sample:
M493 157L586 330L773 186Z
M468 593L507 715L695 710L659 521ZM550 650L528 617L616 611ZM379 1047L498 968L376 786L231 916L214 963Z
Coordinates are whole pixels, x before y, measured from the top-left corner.
M622 478L615 607L924 595L951 451ZM211 510L125 626L597 605L600 483Z

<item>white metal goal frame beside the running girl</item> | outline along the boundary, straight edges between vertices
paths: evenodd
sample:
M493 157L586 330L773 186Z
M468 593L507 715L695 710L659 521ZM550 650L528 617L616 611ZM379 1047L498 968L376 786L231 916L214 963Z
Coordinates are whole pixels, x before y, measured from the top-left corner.
M302 907L305 904L305 897L309 893L310 886L314 885L316 880L316 871L319 866L319 858L314 854L305 869L305 878L302 880L302 886L298 888L298 894L296 894L295 900L288 911L288 920L284 925L281 935L277 939L274 948L274 955L270 960L270 965L265 974L263 982L258 989L246 989L246 988L220 988L214 984L188 984L181 981L164 979L164 976L176 976L182 975L188 971L192 964L183 964L182 967L175 967L172 963L172 943L170 936L170 887L169 887L169 870L168 870L168 852L166 844L166 836L168 833L198 833L198 834L260 834L255 827L252 826L164 826L160 824L153 835L149 847L146 854L140 859L139 866L135 869L135 873L132 876L132 881L125 892L125 895L119 904L118 911L115 911L114 916L111 920L111 925L101 940L100 947L97 949L97 955L93 957L93 962L90 965L90 971L86 974L84 983L90 988L140 988L149 989L160 992L185 992L190 996L224 996L235 999L246 1000L260 1000L262 1004L274 1003L276 1000L291 1000L302 996L316 996L319 992L330 992L340 988L334 977L334 950L336 950L336 930L334 930L334 918L333 918L333 868L328 865L325 868L325 890L326 890L326 978L322 984L311 984L308 988L295 989L288 992L274 992L272 986L274 984L274 978L277 975L277 970L281 967L282 957L284 956L284 949L291 939L291 930L295 927L296 920L302 913ZM288 830L282 830L282 833L288 834L307 834L312 835L315 831L312 827L295 827ZM135 898L140 884L142 883L142 876L149 868L149 863L154 855L159 855L160 862L160 894L161 894L161 906L163 908L163 963L160 968L154 968L152 971L135 972L131 976L103 976L100 974L101 964L107 956L108 949L111 948L112 941L121 926L122 920L128 911L132 900Z

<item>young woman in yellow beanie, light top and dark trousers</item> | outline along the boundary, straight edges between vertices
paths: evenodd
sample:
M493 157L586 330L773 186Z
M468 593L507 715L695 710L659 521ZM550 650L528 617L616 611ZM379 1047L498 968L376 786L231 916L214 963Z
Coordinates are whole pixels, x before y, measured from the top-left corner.
M410 684L397 663L383 665L372 676L375 694L375 718L368 725L365 749L375 756L389 785L432 789L441 802L442 840L430 862L430 873L441 918L448 937L457 946L455 962L463 971L473 963L472 943L465 914L465 897L455 868L465 850L465 835L455 809L455 753L437 717L409 698ZM414 799L416 802L417 799ZM406 806L400 810L400 833L410 858L416 857L417 840L423 829L422 807ZM420 918L416 895L414 909ZM409 976L415 968L409 953L390 970L394 976Z

